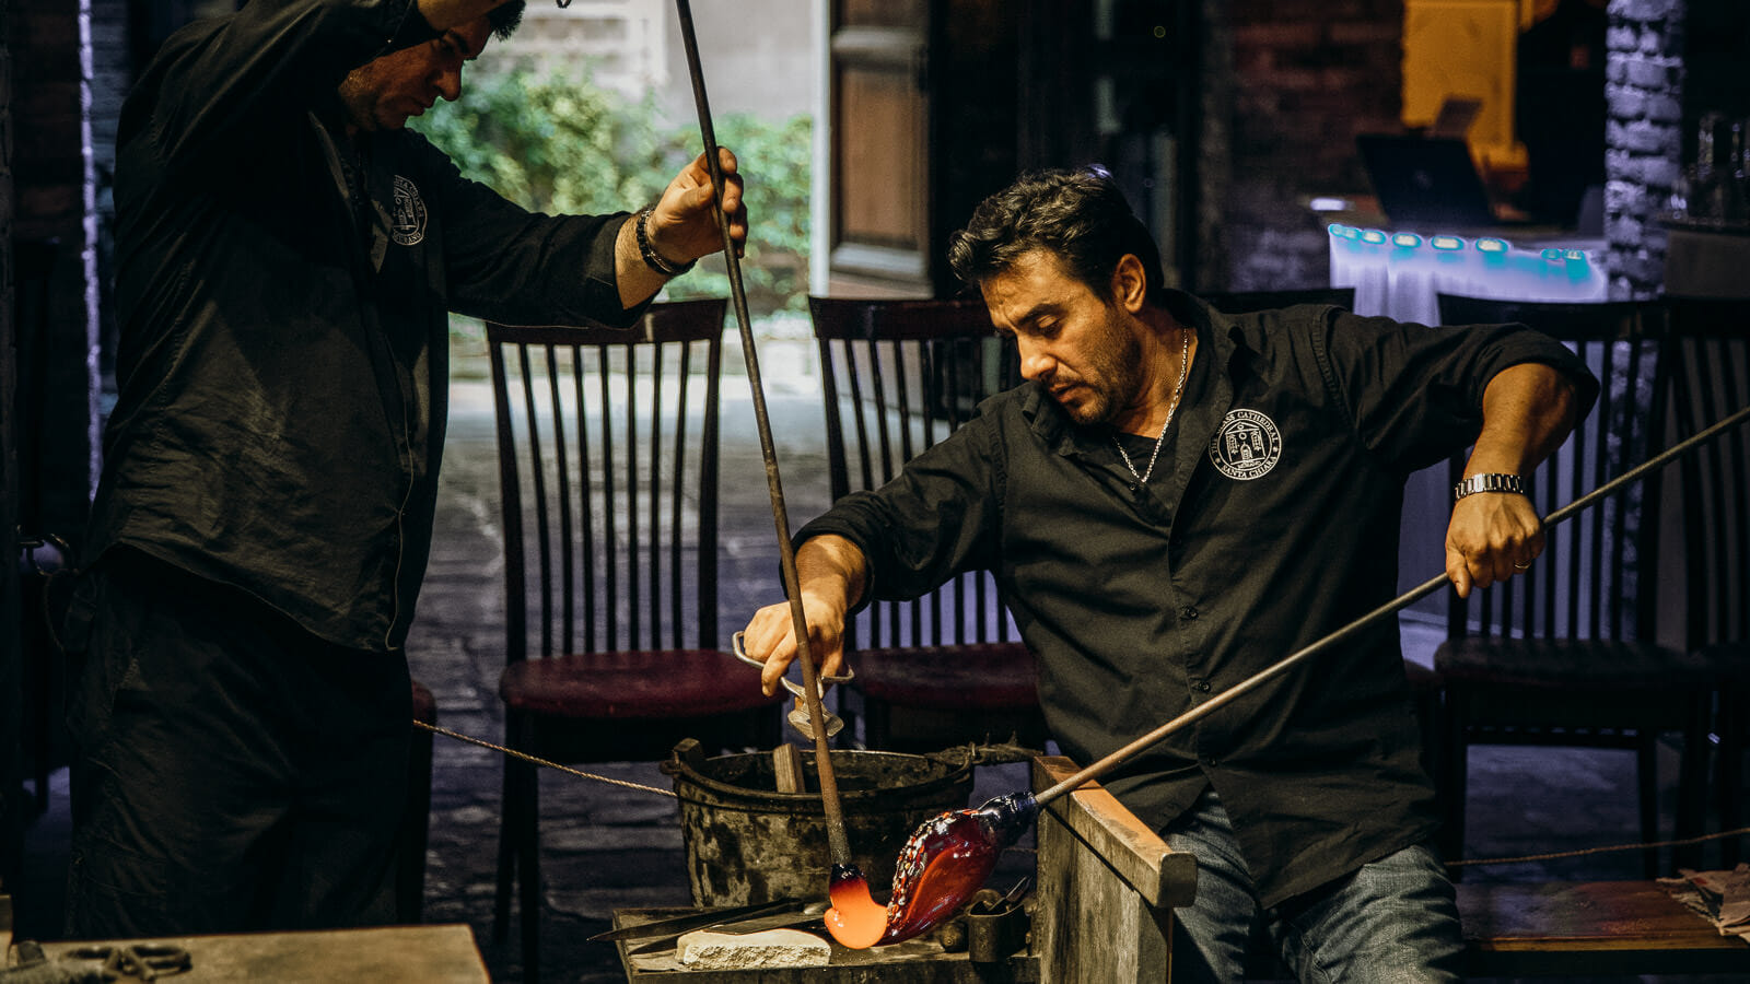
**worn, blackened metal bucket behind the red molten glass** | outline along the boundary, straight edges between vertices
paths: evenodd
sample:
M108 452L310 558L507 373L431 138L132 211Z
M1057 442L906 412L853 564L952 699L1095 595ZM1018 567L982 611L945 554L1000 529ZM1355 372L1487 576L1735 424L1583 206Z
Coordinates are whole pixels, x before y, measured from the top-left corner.
M814 753L803 751L805 793L777 791L772 755L705 758L681 742L662 770L674 777L695 905L821 898L831 874L826 811ZM926 819L964 809L971 755L833 751L850 858L877 896L892 884L906 837Z

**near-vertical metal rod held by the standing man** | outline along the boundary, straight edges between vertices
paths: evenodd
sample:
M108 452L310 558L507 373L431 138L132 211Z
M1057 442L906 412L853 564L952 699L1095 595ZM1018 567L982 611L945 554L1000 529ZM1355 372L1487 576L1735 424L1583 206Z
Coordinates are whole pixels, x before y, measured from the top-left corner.
M754 354L752 324L747 319L747 291L742 287L742 263L730 236L730 217L723 214L723 165L718 161L718 137L710 126L710 103L705 100L705 75L698 67L698 40L693 32L693 7L676 0L681 14L681 40L686 42L686 67L693 75L693 102L698 105L698 131L705 140L705 166L710 168L710 186L718 194L718 226L723 231L723 261L730 270L730 298L735 303L735 320L742 329L742 354L747 359L747 383L752 387L754 424L760 429L760 452L765 457L766 487L772 490L772 520L777 524L779 567L784 576L784 595L789 599L791 623L796 630L796 660L802 664L803 706L814 723L814 769L821 777L821 807L826 811L826 840L835 865L850 865L850 840L845 837L845 814L838 804L838 779L833 776L831 746L826 741L826 714L821 709L819 674L808 653L808 622L802 611L802 583L796 576L796 546L789 541L789 517L784 511L784 483L777 474L777 448L772 443L772 420L766 417L765 387L760 382L760 357Z

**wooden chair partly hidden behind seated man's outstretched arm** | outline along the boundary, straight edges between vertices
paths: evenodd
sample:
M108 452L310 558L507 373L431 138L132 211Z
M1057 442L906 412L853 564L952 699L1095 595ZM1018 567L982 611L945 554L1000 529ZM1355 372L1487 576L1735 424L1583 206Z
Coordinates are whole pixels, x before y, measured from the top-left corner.
M833 499L877 488L914 455L1020 382L1012 347L980 301L810 298L826 396ZM989 573L858 618L845 686L849 725L868 748L933 751L1015 737L1045 746L1032 653Z

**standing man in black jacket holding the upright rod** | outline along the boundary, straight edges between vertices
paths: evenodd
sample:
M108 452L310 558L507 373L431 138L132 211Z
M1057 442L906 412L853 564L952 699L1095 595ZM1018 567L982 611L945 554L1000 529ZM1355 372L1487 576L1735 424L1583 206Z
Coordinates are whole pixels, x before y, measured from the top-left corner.
M746 238L704 158L541 215L404 128L522 0L250 0L170 37L117 140L119 401L66 622L70 931L388 921L446 319L630 326Z

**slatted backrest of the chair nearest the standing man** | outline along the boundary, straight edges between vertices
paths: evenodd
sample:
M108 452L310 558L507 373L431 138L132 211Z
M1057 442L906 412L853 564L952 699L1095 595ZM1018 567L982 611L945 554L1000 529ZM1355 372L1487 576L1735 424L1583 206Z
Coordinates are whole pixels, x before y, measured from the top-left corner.
M486 326L508 658L721 646L724 312L653 305L630 331Z

